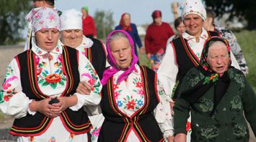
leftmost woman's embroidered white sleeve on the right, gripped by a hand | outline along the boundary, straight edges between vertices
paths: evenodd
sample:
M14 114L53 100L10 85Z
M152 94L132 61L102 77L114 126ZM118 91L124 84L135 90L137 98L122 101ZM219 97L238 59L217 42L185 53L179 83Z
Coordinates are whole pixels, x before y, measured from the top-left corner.
M78 98L78 103L72 106L71 109L78 110L83 105L90 105L92 106L92 110L97 110L94 107L97 107L101 100L100 91L102 90L102 85L100 83L100 77L98 77L97 72L94 70L94 67L87 57L81 55L81 52L79 52L79 74L80 81L85 81L91 85L92 91L90 94L86 95L75 93Z

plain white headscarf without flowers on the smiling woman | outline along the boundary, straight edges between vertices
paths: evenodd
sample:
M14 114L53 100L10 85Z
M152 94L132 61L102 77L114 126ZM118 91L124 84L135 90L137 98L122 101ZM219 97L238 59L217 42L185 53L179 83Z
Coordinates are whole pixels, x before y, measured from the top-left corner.
M69 9L61 14L61 31L66 29L83 29L83 22L80 11Z

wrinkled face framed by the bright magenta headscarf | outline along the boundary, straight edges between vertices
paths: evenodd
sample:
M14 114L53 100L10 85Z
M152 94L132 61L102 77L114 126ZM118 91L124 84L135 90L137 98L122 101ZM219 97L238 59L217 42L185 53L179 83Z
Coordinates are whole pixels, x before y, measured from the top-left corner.
M121 69L127 69L131 65L131 45L125 37L112 40L110 42L110 51L116 64Z

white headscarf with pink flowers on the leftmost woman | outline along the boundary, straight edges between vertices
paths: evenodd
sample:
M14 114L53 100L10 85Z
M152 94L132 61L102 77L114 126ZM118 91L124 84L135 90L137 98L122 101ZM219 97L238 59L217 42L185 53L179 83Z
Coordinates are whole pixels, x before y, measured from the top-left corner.
M58 29L61 27L61 19L56 9L39 7L32 9L26 18L32 24L32 35L40 29Z

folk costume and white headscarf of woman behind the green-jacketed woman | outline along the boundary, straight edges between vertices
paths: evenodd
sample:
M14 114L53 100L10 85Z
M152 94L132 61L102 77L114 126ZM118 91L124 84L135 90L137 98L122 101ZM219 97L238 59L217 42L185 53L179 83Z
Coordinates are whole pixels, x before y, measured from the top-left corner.
M197 14L203 20L206 19L206 9L200 0L187 0L181 6L182 19L187 14ZM203 44L206 39L212 36L219 36L216 32L207 32L203 29L197 41L196 37L184 32L181 37L173 39L167 46L162 64L159 67L159 81L162 82L167 95L172 95L172 99L176 100L177 91L179 90L182 79L192 67L197 67L200 64L200 55L203 50ZM231 54L232 65L239 69L239 65ZM175 88L175 89L174 89ZM190 118L187 122L187 141L190 141Z

